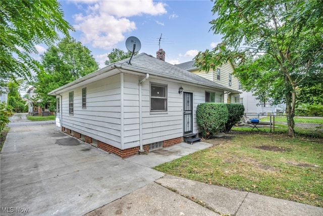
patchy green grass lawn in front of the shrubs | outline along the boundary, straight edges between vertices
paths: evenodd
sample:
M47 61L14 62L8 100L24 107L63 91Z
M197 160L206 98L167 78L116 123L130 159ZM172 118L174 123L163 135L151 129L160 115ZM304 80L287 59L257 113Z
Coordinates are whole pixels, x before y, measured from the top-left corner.
M155 170L212 185L323 207L323 139L234 132Z

